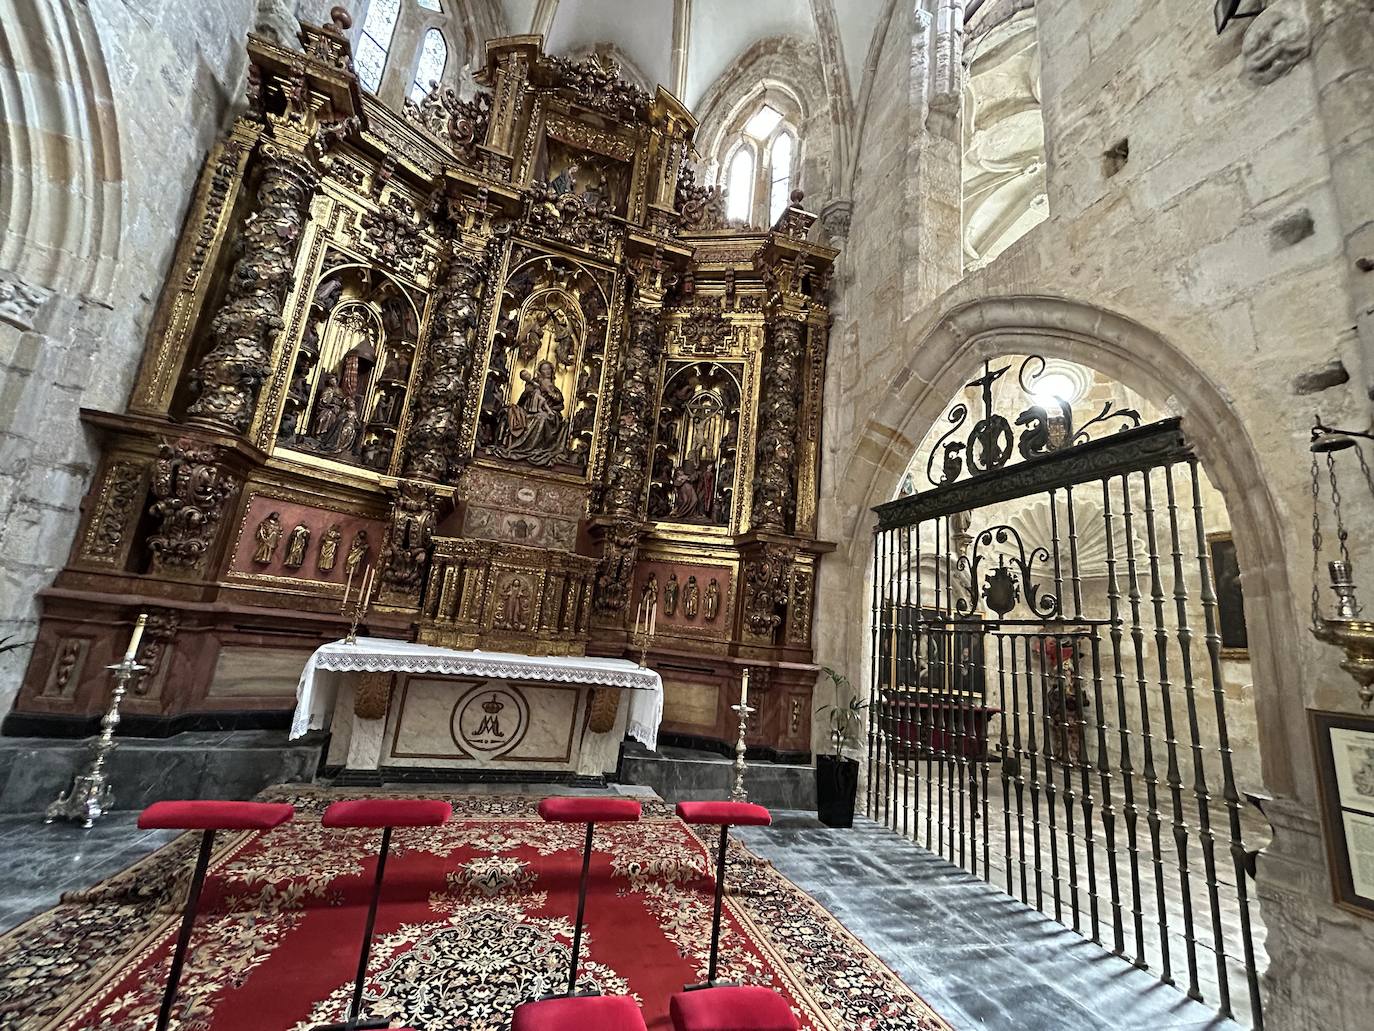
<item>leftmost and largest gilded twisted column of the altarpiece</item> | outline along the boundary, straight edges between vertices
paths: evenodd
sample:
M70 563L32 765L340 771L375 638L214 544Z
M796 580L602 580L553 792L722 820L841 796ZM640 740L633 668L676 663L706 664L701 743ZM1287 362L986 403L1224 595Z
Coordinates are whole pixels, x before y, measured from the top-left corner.
M196 395L188 422L243 432L253 421L268 377L272 342L291 289L295 245L317 181L300 154L267 144L257 210L243 224L243 256L228 276L228 293L210 320L210 349L191 375Z

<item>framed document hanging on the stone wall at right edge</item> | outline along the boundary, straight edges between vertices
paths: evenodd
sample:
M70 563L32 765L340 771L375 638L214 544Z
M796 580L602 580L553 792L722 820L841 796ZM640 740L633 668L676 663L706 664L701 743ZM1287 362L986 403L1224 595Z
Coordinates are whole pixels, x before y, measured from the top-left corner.
M1311 712L1334 902L1374 917L1374 718Z

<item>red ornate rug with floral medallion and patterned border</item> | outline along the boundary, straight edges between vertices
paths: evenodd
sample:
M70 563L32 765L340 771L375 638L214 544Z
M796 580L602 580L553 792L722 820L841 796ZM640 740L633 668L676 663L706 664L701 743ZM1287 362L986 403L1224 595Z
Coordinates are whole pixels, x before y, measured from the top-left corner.
M202 895L179 1031L308 1031L342 1020L381 832L320 826L357 795L278 790L294 822L227 836ZM444 795L453 822L397 830L378 911L365 1012L418 1031L507 1031L525 1001L565 986L581 826L537 799ZM0 938L7 1031L151 1028L198 836ZM635 997L666 1031L668 998L705 976L709 850L664 803L598 826L580 988ZM811 1031L948 1031L818 902L732 843L721 976L765 984Z

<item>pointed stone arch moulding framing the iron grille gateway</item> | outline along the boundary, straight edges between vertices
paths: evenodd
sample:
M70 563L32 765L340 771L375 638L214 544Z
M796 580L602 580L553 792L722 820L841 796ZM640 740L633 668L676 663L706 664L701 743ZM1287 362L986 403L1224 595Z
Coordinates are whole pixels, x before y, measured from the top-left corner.
M1226 500L1241 565L1253 570L1246 620L1264 782L1276 795L1309 797L1303 700L1292 690L1304 675L1301 605L1276 558L1286 553L1285 522L1235 408L1187 355L1146 326L1090 304L1036 296L973 301L934 323L910 352L908 366L894 370L892 378L903 386L883 396L860 432L863 440L883 441L882 454L872 465L852 462L840 474L835 494L859 502L845 532L852 568L868 561L871 539L861 521L896 495L916 441L938 422L969 374L985 360L1028 351L1087 366L1184 412L1183 430ZM851 583L852 598L864 590L863 583Z

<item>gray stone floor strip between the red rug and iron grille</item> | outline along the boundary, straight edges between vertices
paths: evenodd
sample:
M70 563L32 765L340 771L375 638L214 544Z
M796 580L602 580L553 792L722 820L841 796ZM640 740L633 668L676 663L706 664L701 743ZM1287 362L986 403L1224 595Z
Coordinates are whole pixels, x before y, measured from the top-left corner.
M1235 1031L1054 920L872 821L775 812L735 832L818 899L956 1031Z

